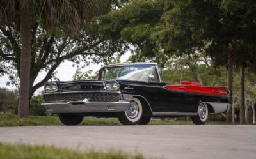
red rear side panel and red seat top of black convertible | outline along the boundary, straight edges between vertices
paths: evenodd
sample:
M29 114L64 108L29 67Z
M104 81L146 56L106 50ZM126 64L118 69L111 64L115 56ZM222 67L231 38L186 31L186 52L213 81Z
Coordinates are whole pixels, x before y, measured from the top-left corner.
M205 87L201 86L198 82L183 81L180 84L170 84L164 86L166 89L173 91L184 91L184 92L195 92L195 93L206 93L212 95L228 96L227 87Z

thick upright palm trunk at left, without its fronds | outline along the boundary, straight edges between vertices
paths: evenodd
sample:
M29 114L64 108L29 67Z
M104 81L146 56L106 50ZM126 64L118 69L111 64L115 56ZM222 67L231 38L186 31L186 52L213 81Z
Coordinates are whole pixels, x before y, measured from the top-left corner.
M29 116L30 67L31 67L31 29L32 15L29 10L20 12L20 90L18 116Z

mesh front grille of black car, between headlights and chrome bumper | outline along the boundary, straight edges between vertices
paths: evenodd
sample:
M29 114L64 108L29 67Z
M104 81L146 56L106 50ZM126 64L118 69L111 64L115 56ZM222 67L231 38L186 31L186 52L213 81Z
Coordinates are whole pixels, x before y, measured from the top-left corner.
M45 102L67 102L70 100L84 100L91 102L118 101L119 93L61 93L44 95Z

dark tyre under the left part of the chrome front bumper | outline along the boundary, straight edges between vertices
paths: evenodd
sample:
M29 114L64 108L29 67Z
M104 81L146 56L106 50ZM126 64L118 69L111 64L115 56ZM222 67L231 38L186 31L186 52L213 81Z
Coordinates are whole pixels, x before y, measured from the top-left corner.
M59 113L61 123L64 125L79 125L83 121L83 116L75 113Z

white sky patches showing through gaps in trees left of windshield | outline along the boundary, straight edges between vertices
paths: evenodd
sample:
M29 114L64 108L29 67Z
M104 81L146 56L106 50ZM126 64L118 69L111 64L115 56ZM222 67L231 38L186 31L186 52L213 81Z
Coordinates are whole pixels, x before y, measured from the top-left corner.
M129 58L129 56L131 56L131 52L126 52L123 56L120 57L120 61L121 63L124 63L127 61L127 59ZM56 71L58 72L56 74L56 77L58 77L60 80L62 81L69 81L72 80L72 76L74 75L74 73L76 72L76 66L72 66L74 63L70 62L70 61L64 61L63 63L60 64L60 66L56 69ZM81 63L80 66L82 66L84 63ZM93 70L93 73L98 71L101 66L103 66L103 63L100 64L90 64L89 66L86 66L85 68L81 68L81 70L83 72L86 72L88 70ZM36 84L37 82L40 82L42 79L44 79L46 75L46 72L40 72L38 77L35 80ZM6 86L6 82L8 82L8 75L4 75L3 77L0 77L0 87L5 87L8 89L15 89L15 86ZM38 89L35 93L35 95L38 95L42 92L43 87L40 87L40 89Z

